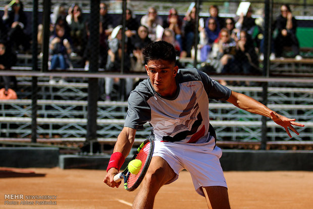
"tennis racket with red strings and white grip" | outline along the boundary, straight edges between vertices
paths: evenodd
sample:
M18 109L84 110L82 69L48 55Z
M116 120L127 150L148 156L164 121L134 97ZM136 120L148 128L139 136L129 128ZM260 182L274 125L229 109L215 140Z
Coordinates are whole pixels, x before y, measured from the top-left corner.
M132 160L138 159L142 162L142 166L138 174L134 175L128 171L128 168L117 175L114 176L114 181L119 182L124 179L124 188L127 191L135 190L139 184L141 183L145 173L148 170L152 153L154 149L154 142L151 139L146 139L144 142L140 144L136 153L134 154Z

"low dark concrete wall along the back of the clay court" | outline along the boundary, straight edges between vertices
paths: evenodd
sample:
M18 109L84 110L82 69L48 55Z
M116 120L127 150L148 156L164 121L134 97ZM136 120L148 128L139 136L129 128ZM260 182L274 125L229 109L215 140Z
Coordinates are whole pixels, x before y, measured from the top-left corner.
M60 155L59 148L0 147L0 167L106 170L109 160L110 155ZM220 161L224 171L313 171L313 150L224 149Z

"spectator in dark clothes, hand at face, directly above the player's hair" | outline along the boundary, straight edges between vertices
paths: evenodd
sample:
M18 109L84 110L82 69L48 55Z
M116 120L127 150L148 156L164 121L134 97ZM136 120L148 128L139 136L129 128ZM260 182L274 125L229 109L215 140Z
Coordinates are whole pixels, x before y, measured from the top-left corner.
M182 47L182 21L178 16L178 12L175 8L170 9L169 16L163 25L164 28L170 28L175 33L175 39L178 41L179 45Z

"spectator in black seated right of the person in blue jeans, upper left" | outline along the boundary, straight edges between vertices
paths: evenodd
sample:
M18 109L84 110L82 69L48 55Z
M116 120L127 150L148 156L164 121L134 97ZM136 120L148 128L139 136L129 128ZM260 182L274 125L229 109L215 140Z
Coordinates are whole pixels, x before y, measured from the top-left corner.
M85 34L85 20L82 16L81 9L78 5L74 5L71 10L71 17L68 20L68 24L71 28L71 39L73 41L73 52L78 54L79 56L83 55L84 47L86 45L86 34Z

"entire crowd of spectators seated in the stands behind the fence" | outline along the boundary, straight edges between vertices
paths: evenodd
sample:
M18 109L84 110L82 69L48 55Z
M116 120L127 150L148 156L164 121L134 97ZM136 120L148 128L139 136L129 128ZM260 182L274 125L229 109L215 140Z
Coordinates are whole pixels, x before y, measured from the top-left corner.
M9 11L9 7L11 10ZM109 5L99 5L99 68L108 72L120 72L122 59L122 38L124 45L124 73L144 73L144 61L141 49L151 41L165 40L172 43L177 50L177 57L193 58L195 35L199 35L197 43L198 61L204 63L201 70L207 73L226 74L260 74L259 60L264 59L264 21L252 17L250 6L246 14L235 18L222 18L215 5L208 8L208 17L200 17L196 28L196 8L191 8L184 16L180 16L175 8L169 10L167 16L158 15L158 11L147 8L147 14L140 21L131 9L126 10L125 36L122 35L123 19L115 21L116 16L108 13ZM30 20L23 11L20 0L4 7L4 15L0 19L0 68L10 69L16 59L5 63L6 53L14 58L16 53L25 53L30 49L29 35L25 34L25 26ZM70 57L81 57L80 65L89 70L90 44L89 19L82 13L79 5L70 8L65 5L54 5L50 15L49 69L65 70L71 68ZM290 7L282 5L281 14L273 23L273 42L270 59L281 58L285 46L291 47L296 60L299 55L299 43L296 37L297 21ZM114 25L114 23L117 23ZM196 32L197 31L197 32ZM42 25L38 26L38 44L42 44ZM5 55L1 48L7 47ZM8 48L10 47L10 48ZM13 78L3 78L5 88L9 88ZM60 82L64 82L61 79ZM126 95L133 89L138 79L126 79ZM50 78L50 83L56 81ZM119 80L105 79L107 99L113 85ZM225 81L220 81L227 84Z

